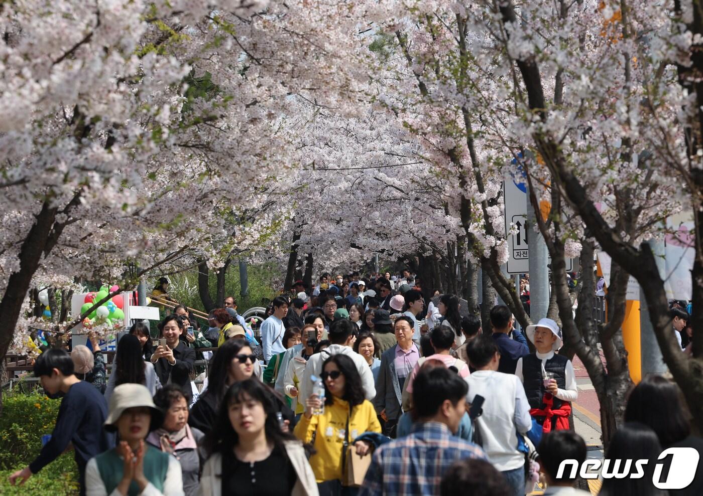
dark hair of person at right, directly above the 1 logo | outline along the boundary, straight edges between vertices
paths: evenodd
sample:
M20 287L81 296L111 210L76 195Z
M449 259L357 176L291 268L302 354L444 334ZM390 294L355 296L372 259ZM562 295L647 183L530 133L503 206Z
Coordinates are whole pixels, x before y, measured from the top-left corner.
M690 434L678 387L659 375L645 377L633 388L625 407L625 422L642 422L650 426L664 448Z

